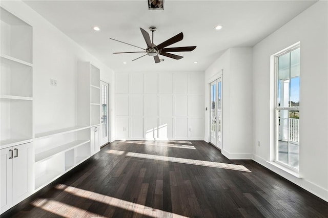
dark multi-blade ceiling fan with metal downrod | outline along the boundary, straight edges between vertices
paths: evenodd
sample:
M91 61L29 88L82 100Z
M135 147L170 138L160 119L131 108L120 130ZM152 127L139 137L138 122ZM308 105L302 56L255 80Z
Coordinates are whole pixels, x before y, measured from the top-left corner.
M149 56L154 57L155 63L159 63L160 59L159 59L158 55L163 55L163 56L166 56L166 57L170 57L170 58L179 60L179 59L183 58L183 56L171 54L171 53L168 53L168 52L191 52L196 48L196 46L166 48L167 46L170 46L170 45L174 44L175 42L181 41L183 39L183 33L182 32L175 35L175 36L173 36L172 38L169 38L168 40L166 40L166 41L164 41L164 42L162 42L162 43L160 43L159 45L156 46L154 44L154 32L156 31L156 27L150 27L149 30L152 32L152 40L150 40L149 33L146 30L140 28L142 36L144 36L144 39L146 41L147 49L144 49L144 48L134 46L134 45L131 45L131 44L123 42L123 41L119 41L119 40L110 38L112 40L119 41L119 42L125 43L125 44L130 45L130 46L137 47L137 48L145 50L145 51L140 51L140 52L113 52L113 54L147 53L145 55L142 55L141 57L149 55ZM137 60L141 57L138 57L134 60ZM132 61L134 61L134 60L132 60Z

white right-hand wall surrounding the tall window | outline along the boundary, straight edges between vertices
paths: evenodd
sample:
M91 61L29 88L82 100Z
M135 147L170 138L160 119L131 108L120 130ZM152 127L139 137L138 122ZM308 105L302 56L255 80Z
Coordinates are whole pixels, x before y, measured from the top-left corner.
M253 48L254 160L328 201L328 2L320 1ZM269 164L273 157L270 56L300 41L300 176ZM261 145L257 146L260 141Z

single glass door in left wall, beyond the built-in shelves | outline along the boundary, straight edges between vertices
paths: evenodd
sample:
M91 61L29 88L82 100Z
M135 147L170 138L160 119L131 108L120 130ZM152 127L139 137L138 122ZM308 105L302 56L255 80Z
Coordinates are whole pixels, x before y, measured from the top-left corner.
M100 126L100 146L109 142L109 122L108 122L108 83L100 81L101 86L101 126Z

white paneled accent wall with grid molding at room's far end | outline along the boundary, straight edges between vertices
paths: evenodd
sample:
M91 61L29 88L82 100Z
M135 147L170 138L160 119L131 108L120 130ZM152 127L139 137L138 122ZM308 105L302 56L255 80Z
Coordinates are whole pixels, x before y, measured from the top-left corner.
M204 139L204 74L115 73L116 139Z

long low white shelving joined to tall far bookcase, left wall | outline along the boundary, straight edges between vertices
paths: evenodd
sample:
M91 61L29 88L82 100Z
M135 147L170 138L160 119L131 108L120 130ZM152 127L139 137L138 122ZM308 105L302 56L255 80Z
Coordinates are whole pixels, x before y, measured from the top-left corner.
M34 135L35 190L100 150L94 132L100 125L100 71L90 62L78 62L76 93L76 126Z

